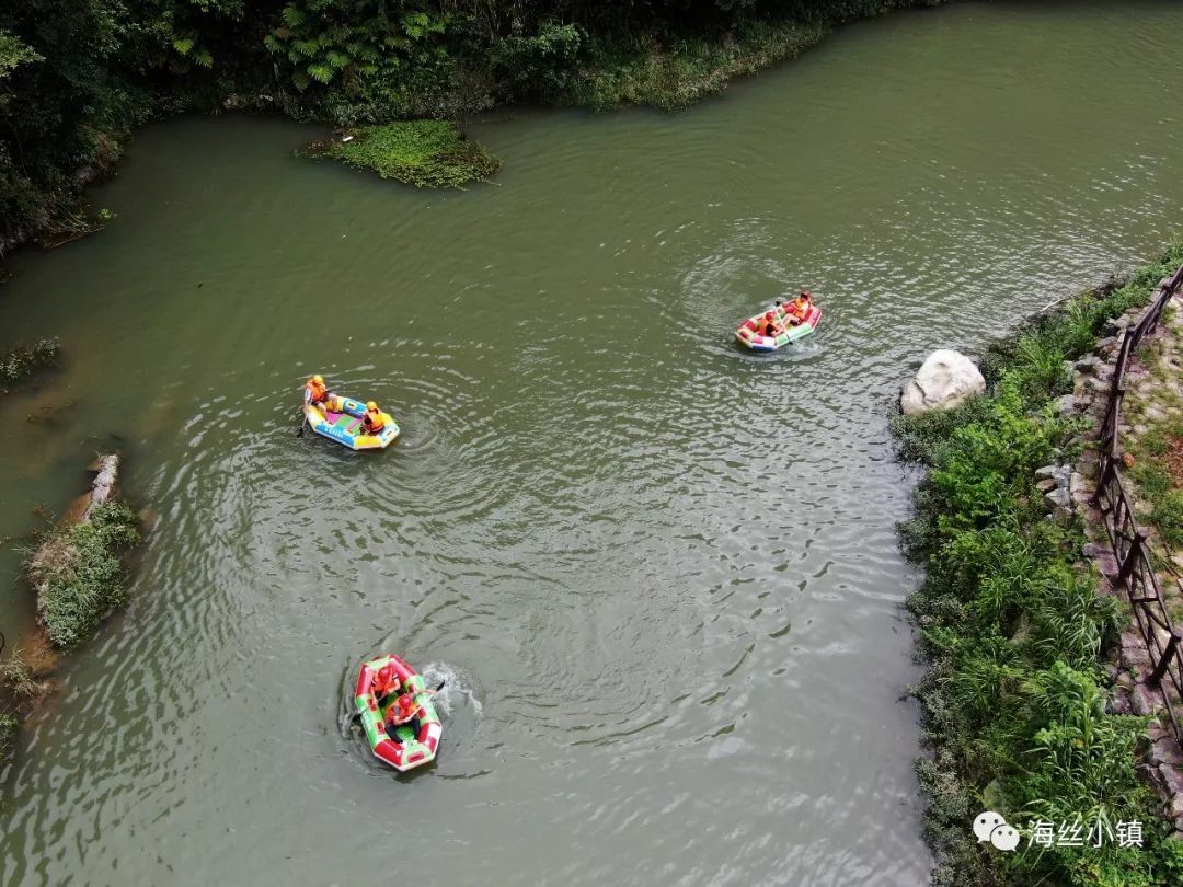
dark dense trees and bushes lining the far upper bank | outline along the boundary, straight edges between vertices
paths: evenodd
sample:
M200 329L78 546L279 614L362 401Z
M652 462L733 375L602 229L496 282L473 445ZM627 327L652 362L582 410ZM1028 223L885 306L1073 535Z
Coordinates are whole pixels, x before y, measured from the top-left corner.
M342 127L518 99L684 105L834 24L945 0L6 0L0 254L66 225L149 115L278 108Z

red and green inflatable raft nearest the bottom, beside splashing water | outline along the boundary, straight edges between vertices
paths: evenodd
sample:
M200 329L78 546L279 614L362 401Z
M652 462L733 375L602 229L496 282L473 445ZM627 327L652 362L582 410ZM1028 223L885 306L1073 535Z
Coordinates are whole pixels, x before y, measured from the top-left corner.
M380 706L377 699L374 698L374 676L386 665L389 665L399 675L399 682L402 686L397 693L392 693ZM401 693L411 693L419 706L419 732L414 733L411 724L400 724L394 727L392 736L386 729L386 716L390 706L397 705ZM361 674L357 675L354 705L357 706L362 726L366 727L370 751L379 760L389 764L395 770L406 771L435 759L435 750L439 747L444 727L440 724L439 714L435 713L435 706L432 705L432 694L424 686L422 676L401 659L392 654L363 662Z

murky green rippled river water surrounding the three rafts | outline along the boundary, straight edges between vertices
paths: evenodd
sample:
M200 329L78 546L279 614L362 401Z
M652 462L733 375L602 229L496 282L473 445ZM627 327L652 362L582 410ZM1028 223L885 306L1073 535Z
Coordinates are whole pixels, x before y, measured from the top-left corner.
M97 449L155 516L6 775L0 880L925 882L886 416L929 349L1177 231L1181 30L896 14L678 116L491 115L505 169L461 194L274 119L143 131L109 229L0 299L66 354L2 404L0 628ZM741 354L800 286L819 332ZM312 371L405 439L297 438ZM381 650L448 679L411 777L342 727Z

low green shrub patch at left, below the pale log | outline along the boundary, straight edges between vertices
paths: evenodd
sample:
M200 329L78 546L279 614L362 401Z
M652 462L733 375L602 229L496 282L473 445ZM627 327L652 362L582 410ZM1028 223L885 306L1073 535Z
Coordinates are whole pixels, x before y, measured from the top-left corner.
M140 542L135 513L122 503L96 507L89 520L51 532L28 561L38 611L56 647L90 636L127 597L122 552Z

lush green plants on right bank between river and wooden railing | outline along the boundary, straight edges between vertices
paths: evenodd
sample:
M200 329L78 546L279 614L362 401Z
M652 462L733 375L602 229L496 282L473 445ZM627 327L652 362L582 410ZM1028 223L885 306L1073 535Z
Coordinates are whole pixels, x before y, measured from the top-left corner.
M931 757L917 764L929 798L937 885L1149 887L1183 882L1183 843L1169 840L1157 797L1136 772L1144 719L1105 711L1100 654L1125 614L1098 597L1079 563L1082 527L1053 520L1036 468L1075 454L1082 420L1062 419L1065 361L1088 350L1106 319L1149 298L1176 248L1110 298L1085 293L983 360L987 396L948 413L896 420L904 454L929 467L916 516L901 525L925 563L909 606L930 668L916 694ZM980 846L969 826L1002 812L1029 839L1037 821L1140 821L1144 848Z

